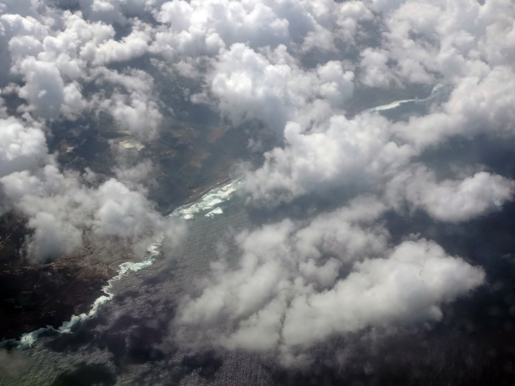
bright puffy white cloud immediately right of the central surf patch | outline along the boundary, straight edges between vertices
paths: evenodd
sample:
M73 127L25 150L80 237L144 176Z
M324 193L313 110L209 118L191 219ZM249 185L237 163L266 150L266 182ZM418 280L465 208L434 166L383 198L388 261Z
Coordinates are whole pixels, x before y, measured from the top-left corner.
M390 135L388 121L377 115L333 116L327 130L311 133L290 122L286 146L265 154L263 166L247 174L245 189L255 200L273 204L329 188L379 187L414 155Z

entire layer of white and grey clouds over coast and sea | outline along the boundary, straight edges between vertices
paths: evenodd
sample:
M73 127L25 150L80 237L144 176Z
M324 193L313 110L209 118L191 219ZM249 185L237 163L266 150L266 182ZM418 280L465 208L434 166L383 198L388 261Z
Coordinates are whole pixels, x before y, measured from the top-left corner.
M451 163L457 138L515 142L510 0L40 0L0 12L0 183L33 230L32 258L100 239L141 253L169 228L145 198L146 161L94 183L47 146L55 125L105 116L156 141L171 114L156 87L166 73L228 123L278 134L239 177L249 206L283 210L235 236L236 266L213 262L174 329L293 363L333 335L438 320L484 283L432 240L393 242L386 216L462 223L513 199L513 176L489 160L428 155ZM302 219L284 209L299 202L313 204Z

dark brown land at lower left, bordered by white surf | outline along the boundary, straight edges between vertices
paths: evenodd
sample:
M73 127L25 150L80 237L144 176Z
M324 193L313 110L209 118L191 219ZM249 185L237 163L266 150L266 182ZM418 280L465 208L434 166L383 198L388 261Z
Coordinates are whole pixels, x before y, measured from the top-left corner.
M88 312L114 270L95 261L97 250L82 248L48 264L0 262L0 339L17 339L46 326L58 328Z

